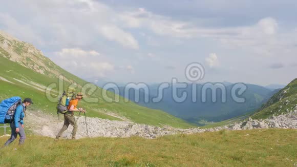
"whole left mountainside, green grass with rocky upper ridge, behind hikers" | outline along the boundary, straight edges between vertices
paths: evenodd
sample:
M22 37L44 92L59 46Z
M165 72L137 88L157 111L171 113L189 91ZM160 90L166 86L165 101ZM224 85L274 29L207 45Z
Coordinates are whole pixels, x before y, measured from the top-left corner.
M32 45L18 41L0 31L0 100L11 96L31 97L35 102L30 107L32 110L56 114L56 102L50 102L47 99L45 90L51 83L58 83L60 75L66 77L63 82L64 88L77 85L77 90L81 91L82 86L87 83L55 65ZM122 97L119 97L118 103L107 102L102 97L102 89L96 88L92 95L86 96L80 103L81 107L87 109L88 116L111 120L126 118L136 123L155 126L192 127L182 119L163 111L141 107L133 102L124 102ZM51 95L57 97L61 91L54 89ZM116 95L108 92L108 96ZM92 97L97 97L99 102L86 102Z

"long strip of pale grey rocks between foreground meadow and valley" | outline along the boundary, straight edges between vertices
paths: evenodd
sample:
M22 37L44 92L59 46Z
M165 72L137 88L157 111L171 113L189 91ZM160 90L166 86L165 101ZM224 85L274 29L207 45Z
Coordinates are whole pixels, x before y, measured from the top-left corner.
M77 118L77 117L76 117ZM56 115L48 115L42 112L28 111L25 117L25 126L33 133L42 136L55 137L63 125L63 115L60 114L60 120ZM249 130L249 129L267 129L267 128L284 128L297 129L297 111L288 114L272 116L266 120L249 119L243 122L236 122L228 126L200 129L177 129L172 127L155 127L146 124L133 123L131 121L116 121L100 118L87 117L88 130L90 137L131 137L140 136L144 138L156 138L163 135L171 134L193 134L202 132L213 132L226 130ZM77 138L87 137L86 121L83 116L77 120L78 130ZM72 126L69 126L63 134L63 138L70 138Z

